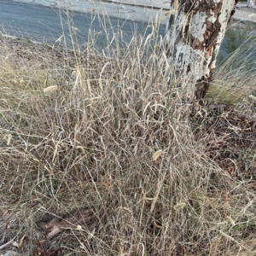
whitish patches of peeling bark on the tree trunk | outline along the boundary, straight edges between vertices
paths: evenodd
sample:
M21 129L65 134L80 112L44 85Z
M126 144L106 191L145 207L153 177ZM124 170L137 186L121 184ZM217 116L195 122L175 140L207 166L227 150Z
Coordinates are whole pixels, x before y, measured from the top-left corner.
M202 2L195 0L196 3ZM210 16L207 12L197 11L189 20L188 16L181 9L178 12L176 20L169 32L166 33L166 45L170 49L170 55L166 56L166 74L174 75L174 79L178 81L178 86L183 88L189 94L195 95L195 84L202 77L210 76L212 69L215 68L216 60L212 59L213 55L218 55L220 44L224 38L227 22L230 12L234 7L235 0L214 0L214 3L222 3L222 9L219 15L214 16L211 11ZM189 25L189 32L193 38L197 38L200 42L204 41L204 34L207 31L207 19L214 23L217 21L221 24L217 38L214 39L214 52L207 45L202 45L202 49L194 49L188 44L188 40L183 38L184 27ZM212 41L213 42L213 41Z

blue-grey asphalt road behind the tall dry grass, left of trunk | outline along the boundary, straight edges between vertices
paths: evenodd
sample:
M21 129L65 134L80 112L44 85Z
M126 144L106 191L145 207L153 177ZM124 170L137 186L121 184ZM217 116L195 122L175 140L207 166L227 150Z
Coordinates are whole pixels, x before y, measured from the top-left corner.
M147 37L152 32L148 21L123 20L118 17L99 15L93 10L88 13L71 11L67 18L67 12L55 7L44 6L36 3L23 3L12 0L0 0L0 32L18 38L31 38L39 42L49 44L65 35L67 46L72 47L70 27L75 27L79 38L79 45L84 48L88 42L89 31L96 34L96 45L99 49L106 49L107 38L112 40L113 34L119 43L125 44L131 41L134 34ZM71 21L73 20L73 21ZM73 22L73 23L72 23ZM63 26L61 26L61 23ZM165 25L160 26L160 34L165 34ZM63 44L62 40L56 44Z

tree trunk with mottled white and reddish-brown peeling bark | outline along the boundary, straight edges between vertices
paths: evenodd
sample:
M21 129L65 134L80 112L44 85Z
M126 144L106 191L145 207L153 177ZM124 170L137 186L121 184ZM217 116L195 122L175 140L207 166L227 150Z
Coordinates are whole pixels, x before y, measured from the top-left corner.
M189 97L203 98L236 0L172 0L166 27L166 74ZM171 12L170 12L171 13Z

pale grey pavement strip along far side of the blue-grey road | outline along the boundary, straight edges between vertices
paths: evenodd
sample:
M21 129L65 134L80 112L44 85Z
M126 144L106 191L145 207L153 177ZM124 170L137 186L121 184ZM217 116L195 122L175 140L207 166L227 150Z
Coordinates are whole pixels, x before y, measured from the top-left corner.
M160 19L169 9L170 0L15 0L24 3L38 3L50 7L68 8L70 10L92 13L123 19L147 21L156 17ZM1 2L1 1L0 1ZM238 3L235 20L256 23L256 9L247 8L246 3ZM166 24L162 20L161 24Z

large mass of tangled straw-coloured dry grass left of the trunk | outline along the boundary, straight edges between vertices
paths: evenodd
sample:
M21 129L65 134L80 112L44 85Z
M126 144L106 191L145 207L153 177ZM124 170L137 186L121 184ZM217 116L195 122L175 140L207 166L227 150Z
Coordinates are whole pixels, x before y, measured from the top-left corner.
M154 49L142 61L149 41L117 61L1 38L1 244L15 238L22 255L256 253L255 190L209 159L192 103ZM89 222L81 213L44 241L45 213L84 209Z

